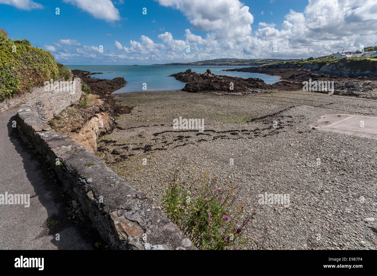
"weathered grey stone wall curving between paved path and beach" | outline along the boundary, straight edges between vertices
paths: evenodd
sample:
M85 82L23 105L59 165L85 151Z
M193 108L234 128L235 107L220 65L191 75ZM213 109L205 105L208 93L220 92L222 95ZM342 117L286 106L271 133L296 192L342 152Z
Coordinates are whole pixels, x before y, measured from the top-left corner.
M17 112L18 128L52 164L64 191L80 203L111 249L196 249L144 193L46 124L80 98L80 82L76 88L74 94L59 91L39 96Z

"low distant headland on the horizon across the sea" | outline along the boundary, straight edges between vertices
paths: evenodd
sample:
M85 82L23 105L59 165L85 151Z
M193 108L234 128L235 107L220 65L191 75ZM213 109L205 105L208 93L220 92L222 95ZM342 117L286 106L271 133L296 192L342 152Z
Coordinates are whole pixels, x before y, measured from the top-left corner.
M201 61L194 61L189 63L166 63L166 64L152 64L152 65L216 65L216 66L258 66L270 63L279 63L283 61L294 61L297 59L275 59L275 58L257 58L257 59L240 59L240 58L217 58L207 59Z

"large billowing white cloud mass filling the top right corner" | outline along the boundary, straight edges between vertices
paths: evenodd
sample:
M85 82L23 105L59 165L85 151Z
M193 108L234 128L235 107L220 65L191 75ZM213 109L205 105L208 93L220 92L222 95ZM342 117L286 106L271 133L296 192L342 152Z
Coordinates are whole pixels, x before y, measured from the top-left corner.
M290 10L281 30L259 24L255 36L271 41L277 52L270 56L322 56L345 49L354 51L360 44L373 46L377 40L375 26L377 1L311 0L304 12ZM270 44L270 46L271 46ZM269 47L268 49L270 49Z

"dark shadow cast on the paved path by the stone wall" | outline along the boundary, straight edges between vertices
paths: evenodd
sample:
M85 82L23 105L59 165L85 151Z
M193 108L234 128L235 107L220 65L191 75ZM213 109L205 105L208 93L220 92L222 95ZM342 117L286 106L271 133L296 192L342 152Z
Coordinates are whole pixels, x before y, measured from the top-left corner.
M35 233L35 242L43 236L51 235L51 243L61 250L108 249L97 230L91 226L89 218L83 215L72 198L63 191L51 164L23 138L17 127L12 127L16 118L17 114L7 124L9 139L22 158L23 169L38 200L48 213L43 230Z

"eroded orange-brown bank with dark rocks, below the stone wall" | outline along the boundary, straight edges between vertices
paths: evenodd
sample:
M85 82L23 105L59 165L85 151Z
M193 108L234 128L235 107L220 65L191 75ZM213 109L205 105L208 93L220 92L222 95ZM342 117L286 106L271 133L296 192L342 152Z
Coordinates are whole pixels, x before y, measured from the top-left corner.
M112 80L91 78L88 71L73 70L72 73L87 84L90 93L83 93L77 104L61 111L49 124L95 154L98 138L110 133L116 126L117 117L130 113L132 109L121 105L120 101L110 95L123 87L126 81L119 77Z

